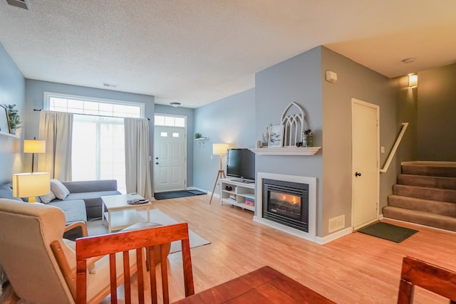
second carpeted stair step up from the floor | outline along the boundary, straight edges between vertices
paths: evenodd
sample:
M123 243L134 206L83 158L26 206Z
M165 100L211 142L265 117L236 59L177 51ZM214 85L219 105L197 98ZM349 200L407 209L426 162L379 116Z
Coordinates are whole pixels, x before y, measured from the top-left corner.
M456 217L456 204L448 201L432 201L408 196L388 195L388 206Z

